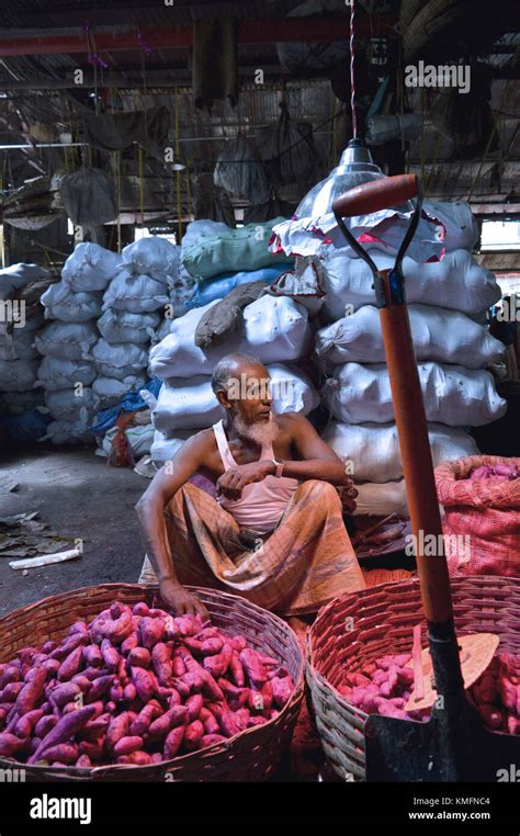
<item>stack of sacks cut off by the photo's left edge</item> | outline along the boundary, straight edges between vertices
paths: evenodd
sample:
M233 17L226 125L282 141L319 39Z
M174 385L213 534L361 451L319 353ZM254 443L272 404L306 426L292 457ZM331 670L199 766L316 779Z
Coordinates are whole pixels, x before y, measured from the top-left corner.
M39 354L34 346L44 324L37 304L27 306L24 289L52 281L47 270L37 264L12 264L0 270L0 413L20 416L42 403L37 381Z

